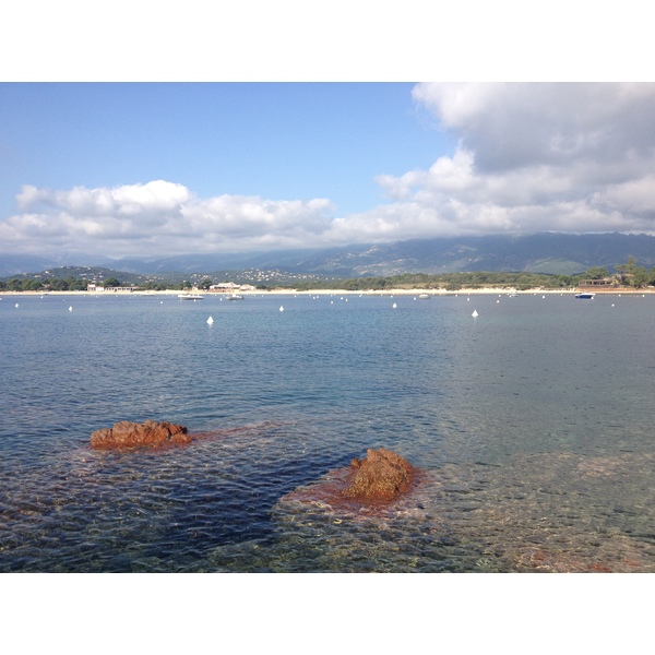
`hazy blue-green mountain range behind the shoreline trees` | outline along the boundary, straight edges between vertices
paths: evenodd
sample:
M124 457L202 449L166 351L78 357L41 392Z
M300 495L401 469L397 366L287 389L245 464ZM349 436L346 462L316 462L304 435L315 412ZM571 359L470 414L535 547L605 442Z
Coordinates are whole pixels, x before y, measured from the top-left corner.
M655 237L647 235L540 233L528 236L414 239L358 245L233 254L187 254L168 258L110 259L94 255L36 257L0 254L0 276L36 273L55 266L104 266L138 274L203 273L248 269L278 270L326 277L389 276L402 273L460 271L579 274L592 266L623 264L655 266Z

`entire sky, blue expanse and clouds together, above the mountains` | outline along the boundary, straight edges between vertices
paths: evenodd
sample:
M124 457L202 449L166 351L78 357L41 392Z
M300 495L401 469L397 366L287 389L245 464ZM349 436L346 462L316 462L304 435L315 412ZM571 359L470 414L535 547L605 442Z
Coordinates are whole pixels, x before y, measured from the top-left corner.
M653 83L0 84L0 252L655 234Z

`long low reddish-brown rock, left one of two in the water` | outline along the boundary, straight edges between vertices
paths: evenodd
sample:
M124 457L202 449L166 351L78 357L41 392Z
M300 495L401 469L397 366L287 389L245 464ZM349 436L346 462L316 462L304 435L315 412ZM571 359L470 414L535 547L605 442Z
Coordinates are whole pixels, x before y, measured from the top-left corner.
M102 428L91 434L91 446L97 449L190 443L191 441L184 426L154 420L142 424L121 420L112 428Z

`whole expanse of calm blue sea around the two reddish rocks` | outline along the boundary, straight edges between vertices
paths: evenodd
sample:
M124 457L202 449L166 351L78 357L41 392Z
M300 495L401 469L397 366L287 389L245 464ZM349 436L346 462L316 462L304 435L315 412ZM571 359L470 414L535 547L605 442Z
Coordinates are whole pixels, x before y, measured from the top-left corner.
M4 295L0 571L654 571L654 314ZM206 436L90 449L146 418ZM386 510L285 498L379 446L425 471Z

